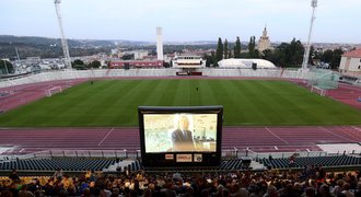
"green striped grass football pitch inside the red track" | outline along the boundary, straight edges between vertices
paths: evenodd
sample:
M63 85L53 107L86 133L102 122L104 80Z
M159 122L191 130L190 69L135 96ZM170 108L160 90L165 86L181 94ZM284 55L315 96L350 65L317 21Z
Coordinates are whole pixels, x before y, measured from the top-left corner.
M225 126L361 125L361 111L287 81L84 82L0 115L0 127L133 127L138 106L223 105Z

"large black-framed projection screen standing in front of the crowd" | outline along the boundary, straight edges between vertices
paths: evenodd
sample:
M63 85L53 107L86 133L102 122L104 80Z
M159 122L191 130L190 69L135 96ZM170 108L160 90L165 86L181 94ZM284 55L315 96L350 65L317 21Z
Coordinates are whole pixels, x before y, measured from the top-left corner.
M140 106L143 165L218 165L222 113L222 106Z

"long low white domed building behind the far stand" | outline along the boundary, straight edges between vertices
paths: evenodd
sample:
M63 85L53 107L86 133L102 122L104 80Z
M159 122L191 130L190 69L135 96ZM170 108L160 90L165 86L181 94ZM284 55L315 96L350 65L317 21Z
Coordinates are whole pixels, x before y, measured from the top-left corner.
M252 69L253 66L256 66L260 69L273 69L276 66L265 59L238 59L238 58L231 58L231 59L222 59L218 61L220 68L241 68L241 69Z

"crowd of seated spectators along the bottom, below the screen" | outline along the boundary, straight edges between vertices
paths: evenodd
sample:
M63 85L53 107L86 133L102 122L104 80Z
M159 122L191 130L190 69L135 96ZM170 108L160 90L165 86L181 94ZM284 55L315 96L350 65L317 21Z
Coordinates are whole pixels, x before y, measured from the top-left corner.
M22 177L14 170L0 182L0 196L104 196L104 197L361 197L361 173L326 172L321 166L303 171L162 173L144 171L105 175L88 171L69 176L58 170L54 176Z

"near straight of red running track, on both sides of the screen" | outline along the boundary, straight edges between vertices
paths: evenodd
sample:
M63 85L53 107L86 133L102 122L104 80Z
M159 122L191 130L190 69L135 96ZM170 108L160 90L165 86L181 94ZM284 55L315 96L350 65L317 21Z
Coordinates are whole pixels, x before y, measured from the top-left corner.
M224 127L222 150L248 148L255 152L321 151L321 143L361 142L361 126ZM140 150L138 128L2 128L2 154L51 149Z

